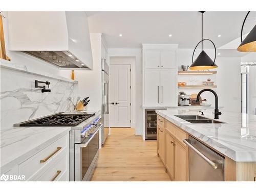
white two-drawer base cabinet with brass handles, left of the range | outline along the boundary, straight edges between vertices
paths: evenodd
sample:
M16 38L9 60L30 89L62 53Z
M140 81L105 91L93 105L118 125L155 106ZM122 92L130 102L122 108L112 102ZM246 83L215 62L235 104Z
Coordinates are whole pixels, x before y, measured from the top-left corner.
M18 165L27 181L69 181L69 132Z

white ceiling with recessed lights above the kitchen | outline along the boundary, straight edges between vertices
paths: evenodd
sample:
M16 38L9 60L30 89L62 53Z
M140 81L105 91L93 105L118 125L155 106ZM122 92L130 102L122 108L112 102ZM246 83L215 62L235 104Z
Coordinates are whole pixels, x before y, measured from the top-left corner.
M103 33L109 48L141 48L142 44L179 44L195 48L202 38L202 16L198 11L109 11L86 12L92 33ZM208 11L204 13L204 38L217 48L238 38L247 11ZM244 34L256 24L256 12L250 12ZM119 37L119 34L122 37ZM172 34L172 37L168 37ZM221 37L217 37L221 34ZM205 42L206 48L212 48ZM236 48L234 48L236 49ZM225 52L233 52L225 50Z

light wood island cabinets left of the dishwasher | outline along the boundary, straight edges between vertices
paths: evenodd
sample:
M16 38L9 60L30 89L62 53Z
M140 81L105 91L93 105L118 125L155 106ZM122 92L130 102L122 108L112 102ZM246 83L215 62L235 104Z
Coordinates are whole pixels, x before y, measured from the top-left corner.
M162 128L164 125L164 128ZM158 155L173 181L188 181L188 147L182 142L188 134L157 115ZM163 139L161 141L160 139ZM165 155L163 155L163 153Z

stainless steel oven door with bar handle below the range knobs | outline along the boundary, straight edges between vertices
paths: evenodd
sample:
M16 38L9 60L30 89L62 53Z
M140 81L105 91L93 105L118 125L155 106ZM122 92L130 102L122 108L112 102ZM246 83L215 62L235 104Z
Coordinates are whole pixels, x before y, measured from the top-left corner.
M75 181L89 180L99 150L99 129L82 143L75 144Z

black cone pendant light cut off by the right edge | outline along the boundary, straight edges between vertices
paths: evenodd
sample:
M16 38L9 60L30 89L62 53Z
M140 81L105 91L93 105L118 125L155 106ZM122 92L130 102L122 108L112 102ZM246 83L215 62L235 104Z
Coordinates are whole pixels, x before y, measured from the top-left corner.
M252 28L252 30L245 37L244 40L242 38L244 23L249 13L250 11L248 11L248 13L246 14L243 25L242 25L242 29L241 29L241 44L237 49L240 52L256 52L256 25Z

